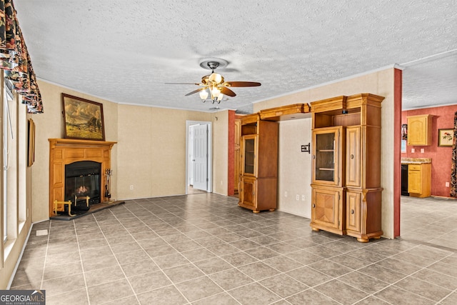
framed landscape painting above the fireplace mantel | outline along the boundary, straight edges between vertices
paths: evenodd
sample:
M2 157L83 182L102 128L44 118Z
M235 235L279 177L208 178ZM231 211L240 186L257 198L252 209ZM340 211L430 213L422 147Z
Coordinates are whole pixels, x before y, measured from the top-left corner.
M105 141L103 104L62 94L65 138Z

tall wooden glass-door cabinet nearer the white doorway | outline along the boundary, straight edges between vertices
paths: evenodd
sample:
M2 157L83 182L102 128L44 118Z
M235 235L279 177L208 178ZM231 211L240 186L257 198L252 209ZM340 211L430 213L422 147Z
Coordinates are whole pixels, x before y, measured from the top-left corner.
M277 204L278 123L258 114L241 118L241 174L238 205L254 213Z

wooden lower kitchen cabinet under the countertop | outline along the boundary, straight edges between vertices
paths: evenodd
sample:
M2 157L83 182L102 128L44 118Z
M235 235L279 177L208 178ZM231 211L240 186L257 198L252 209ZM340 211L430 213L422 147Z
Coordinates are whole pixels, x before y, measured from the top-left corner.
M431 196L431 164L408 164L408 193L411 197Z

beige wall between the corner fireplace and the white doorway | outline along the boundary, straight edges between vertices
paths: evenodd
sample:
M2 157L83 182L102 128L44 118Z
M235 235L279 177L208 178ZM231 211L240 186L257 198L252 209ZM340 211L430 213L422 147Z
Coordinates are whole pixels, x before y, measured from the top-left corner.
M210 116L119 105L117 199L185 194L186 121L210 121Z

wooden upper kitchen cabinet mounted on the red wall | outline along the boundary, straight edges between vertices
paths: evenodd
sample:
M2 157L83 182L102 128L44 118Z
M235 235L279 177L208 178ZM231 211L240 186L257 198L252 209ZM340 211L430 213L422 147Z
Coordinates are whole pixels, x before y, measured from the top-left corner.
M431 114L408 116L408 145L431 145L432 119Z

